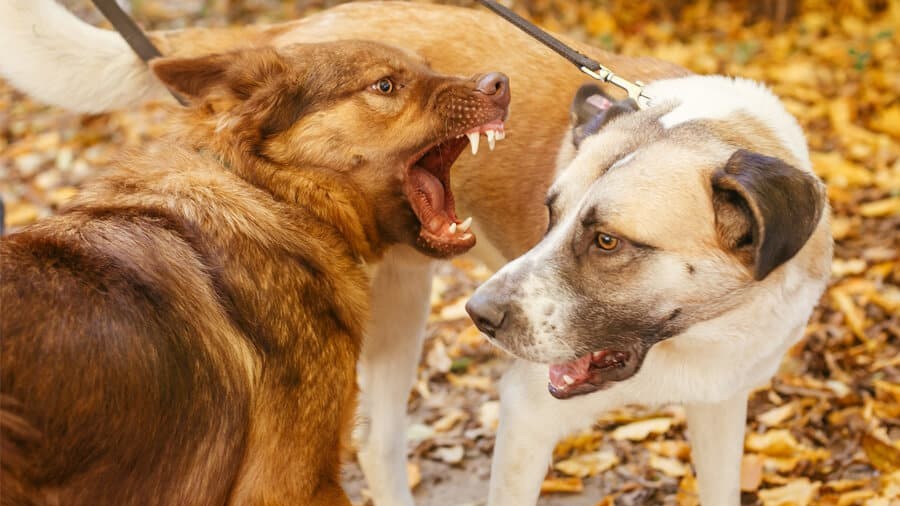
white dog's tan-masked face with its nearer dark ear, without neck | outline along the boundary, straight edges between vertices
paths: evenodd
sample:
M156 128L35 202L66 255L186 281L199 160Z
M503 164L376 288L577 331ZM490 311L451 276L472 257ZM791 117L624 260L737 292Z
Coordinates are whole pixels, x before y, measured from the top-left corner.
M746 302L819 222L811 174L659 117L583 141L549 192L548 234L469 303L494 343L552 364L559 398L632 377L655 343Z

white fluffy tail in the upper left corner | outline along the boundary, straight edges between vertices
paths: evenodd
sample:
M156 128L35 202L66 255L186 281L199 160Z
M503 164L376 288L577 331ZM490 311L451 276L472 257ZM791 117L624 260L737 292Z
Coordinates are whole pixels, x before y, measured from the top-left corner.
M37 100L79 112L167 95L118 33L53 0L0 0L0 76Z

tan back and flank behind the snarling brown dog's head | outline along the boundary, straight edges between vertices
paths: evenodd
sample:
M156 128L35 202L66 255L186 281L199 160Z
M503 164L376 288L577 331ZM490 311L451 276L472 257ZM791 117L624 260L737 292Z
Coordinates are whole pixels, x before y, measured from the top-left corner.
M460 28L467 26L474 28ZM415 52L440 72L502 70L516 90L506 139L492 152L480 151L475 157L463 153L453 168L453 190L459 215L474 216L479 237L496 245L505 258L527 251L546 230L543 201L560 140L568 131L570 102L580 85L596 82L498 16L483 9L446 5L355 2L297 21L243 27L233 34L187 29L151 37L163 54L178 55L204 54L211 46L280 47L359 37ZM617 55L559 38L629 79L650 82L688 74L672 63ZM603 87L621 97L618 89Z

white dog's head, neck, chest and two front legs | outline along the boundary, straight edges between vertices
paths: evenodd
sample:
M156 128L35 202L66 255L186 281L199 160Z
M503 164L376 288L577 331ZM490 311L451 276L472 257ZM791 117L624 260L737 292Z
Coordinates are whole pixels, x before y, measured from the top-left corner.
M647 93L646 110L581 116L547 235L468 303L528 360L503 379L492 506L533 504L557 440L633 403L684 404L701 503L740 504L747 395L825 289L824 185L778 99L721 76Z

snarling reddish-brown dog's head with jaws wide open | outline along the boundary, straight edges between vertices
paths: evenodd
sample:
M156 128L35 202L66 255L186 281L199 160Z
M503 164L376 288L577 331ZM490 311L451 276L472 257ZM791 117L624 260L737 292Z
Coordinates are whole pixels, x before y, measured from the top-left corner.
M376 246L407 243L443 257L475 244L458 224L450 166L467 135L502 136L503 74L440 75L368 41L162 58L152 67L190 100L195 142L221 139L209 149L277 198L301 200L311 184L335 192Z

